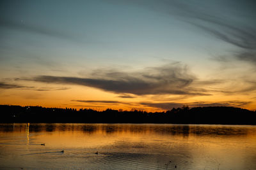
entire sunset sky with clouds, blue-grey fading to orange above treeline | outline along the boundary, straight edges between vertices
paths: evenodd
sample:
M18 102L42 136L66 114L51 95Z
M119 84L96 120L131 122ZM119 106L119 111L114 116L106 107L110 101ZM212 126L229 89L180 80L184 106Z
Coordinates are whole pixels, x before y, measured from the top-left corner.
M1 1L0 104L256 110L255 1Z

